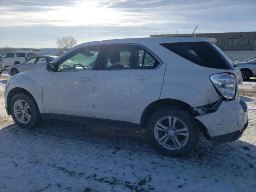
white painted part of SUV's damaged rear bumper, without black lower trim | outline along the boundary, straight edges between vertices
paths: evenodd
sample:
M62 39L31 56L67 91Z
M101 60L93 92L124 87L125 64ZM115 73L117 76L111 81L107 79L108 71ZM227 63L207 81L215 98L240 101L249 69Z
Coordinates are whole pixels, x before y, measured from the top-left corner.
M216 112L196 116L208 130L210 137L235 132L244 127L248 120L239 100L223 101Z

